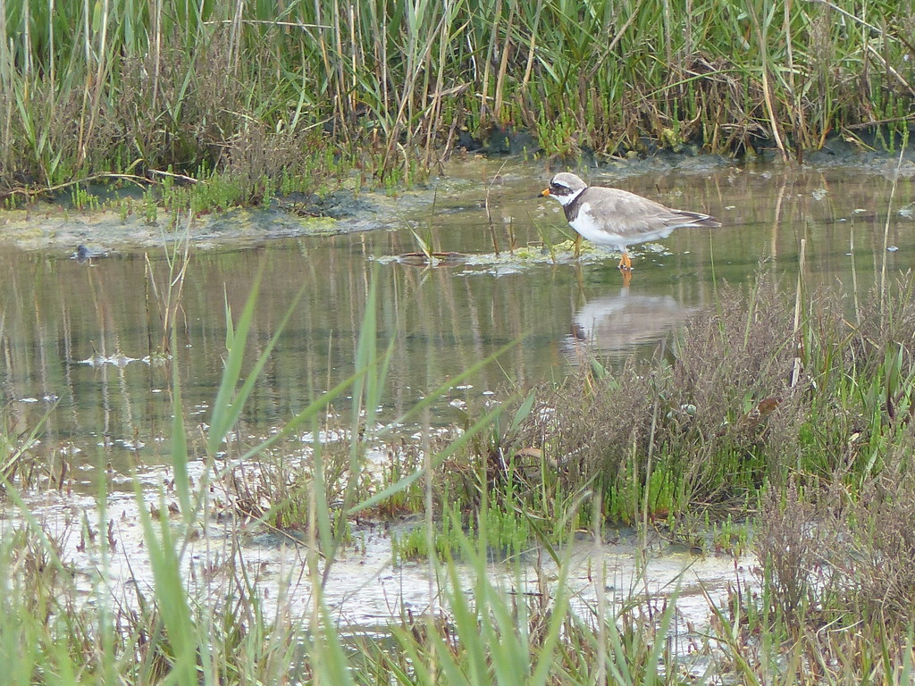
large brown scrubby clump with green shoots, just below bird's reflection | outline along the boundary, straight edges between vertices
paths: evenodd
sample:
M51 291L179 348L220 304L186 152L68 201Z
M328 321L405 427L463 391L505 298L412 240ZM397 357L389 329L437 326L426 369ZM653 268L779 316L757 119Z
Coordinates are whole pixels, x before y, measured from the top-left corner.
M875 287L857 318L842 295L768 275L723 286L653 359L582 365L544 389L520 442L624 520L745 510L791 479L815 493L844 473L857 488L913 431L912 282Z

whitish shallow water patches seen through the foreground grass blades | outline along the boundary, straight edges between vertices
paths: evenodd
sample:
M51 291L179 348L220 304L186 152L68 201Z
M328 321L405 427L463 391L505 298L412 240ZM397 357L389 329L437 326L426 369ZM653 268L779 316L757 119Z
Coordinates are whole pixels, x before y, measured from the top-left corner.
M189 472L195 481L206 478L199 464ZM144 508L158 509L157 485L171 481L170 470L151 468L141 478ZM107 498L102 520L96 517L95 499L88 495L49 490L28 496L27 506L42 522L45 533L57 541L60 558L76 572L75 584L85 602L106 603L103 596L110 593L117 605L133 606L134 586L147 597L154 595L154 573L132 493L115 492ZM0 533L19 524L15 516L0 518ZM185 530L178 514L171 515L171 525ZM432 611L448 614L447 594L442 592L442 584L447 584L445 570L430 570L427 561L393 561L393 536L414 526L422 523L355 525L352 542L336 556L320 591L307 571L306 545L262 529L237 527L231 516L212 517L195 525L201 535L188 537L181 569L191 595L212 598L225 595L231 586L231 570L244 570L248 582L256 586L261 611L267 617L284 612L307 617L319 593L344 630L385 638L391 623L396 625L406 616L421 617ZM86 532L92 530L95 535L87 537ZM594 618L600 602L607 604L608 612L626 607L657 619L675 596L676 612L668 637L684 658L704 642L704 627L713 612L710 604L724 608L735 588L746 592L758 587L755 561L748 555L697 555L653 533L641 541L632 529L605 531L599 544L584 536L565 547L557 546L554 552L562 571L545 552L532 550L513 561L493 560L486 565L487 580L506 594L554 597L562 578L569 606L586 620ZM458 561L456 573L460 587L471 593L473 566ZM599 595L603 600L598 600Z

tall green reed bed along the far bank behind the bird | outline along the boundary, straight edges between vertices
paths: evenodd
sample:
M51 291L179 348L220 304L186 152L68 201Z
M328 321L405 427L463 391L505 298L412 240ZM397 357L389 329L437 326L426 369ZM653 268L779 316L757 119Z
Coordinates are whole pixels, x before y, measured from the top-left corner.
M0 195L215 184L189 201L221 208L352 167L395 184L457 145L893 149L913 36L895 0L7 0Z

